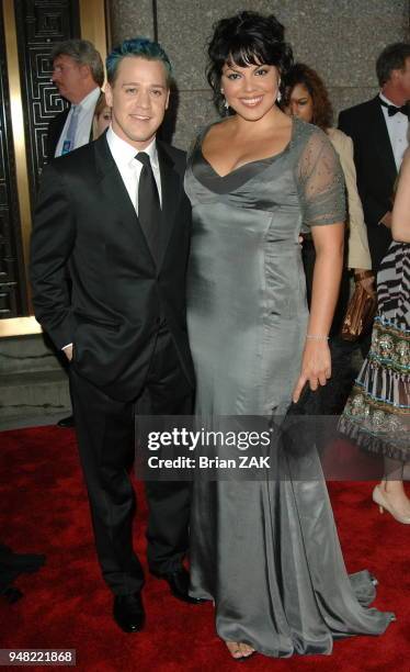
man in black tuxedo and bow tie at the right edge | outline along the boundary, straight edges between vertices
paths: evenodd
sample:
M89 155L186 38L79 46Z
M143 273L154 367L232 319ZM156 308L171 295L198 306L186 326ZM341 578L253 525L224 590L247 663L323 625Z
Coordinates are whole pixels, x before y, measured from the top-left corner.
M379 94L339 116L339 127L353 139L357 188L375 273L391 243L394 184L408 146L410 44L387 46L377 59L376 72Z

